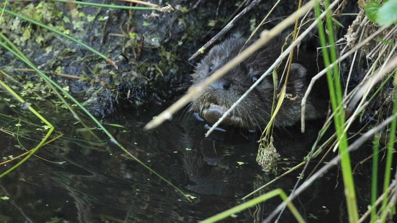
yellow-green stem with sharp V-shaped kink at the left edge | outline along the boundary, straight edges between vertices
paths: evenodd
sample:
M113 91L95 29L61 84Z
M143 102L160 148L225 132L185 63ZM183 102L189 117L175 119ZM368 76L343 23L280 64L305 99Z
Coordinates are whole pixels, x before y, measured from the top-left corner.
M8 92L10 92L10 94L12 94L15 98L17 98L17 100L19 100L19 102L25 103L25 100L23 100L21 97L19 97L19 95L17 93L15 93L10 87L8 87L8 85L6 85L1 80L0 80L0 85L4 89L6 89ZM31 112L33 112L37 117L39 117L39 119L41 119L41 121L43 121L50 128L49 128L47 134L44 136L44 138L40 141L40 143L35 148L33 148L33 150L27 156L25 156L25 158L23 158L23 160L19 161L17 164L13 165L10 169L6 170L4 173L0 174L0 178L4 177L5 175L7 175L11 171L13 171L15 168L17 168L19 165L24 163L27 159L29 159L40 148L40 146L42 146L44 144L44 142L46 142L48 137L51 135L52 131L54 131L54 126L52 126L51 123L49 123L44 117L42 117L34 108L32 108L31 106L27 106L27 107L29 108L29 110Z

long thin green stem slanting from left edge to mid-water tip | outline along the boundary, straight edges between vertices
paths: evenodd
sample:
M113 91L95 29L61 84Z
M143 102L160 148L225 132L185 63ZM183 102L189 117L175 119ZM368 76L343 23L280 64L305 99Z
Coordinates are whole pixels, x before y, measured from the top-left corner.
M37 73L39 73L39 75L48 80L52 85L54 85L56 88L58 88L62 93L64 93L70 100L72 100L75 104L77 104L77 106L79 106L103 131L104 133L106 133L106 135L109 136L110 140L112 142L114 142L117 146L119 146L119 148L121 148L121 150L123 150L126 154L128 154L129 156L131 156L134 160L136 160L138 163L140 163L141 165L143 165L146 169L148 169L150 172L154 173L156 176L158 176L160 179L162 179L163 181L165 181L166 183L168 183L169 185L171 185L173 188L175 188L175 190L177 190L179 193L181 193L187 200L189 200L191 202L191 200L185 195L185 193L183 193L183 191L179 188L177 188L175 185L173 185L170 181L166 180L164 177L162 177L160 174L158 174L157 172L155 172L154 170L152 170L150 167L148 167L145 163L143 163L141 160L139 160L138 158L136 158L135 156L133 156L130 152L128 152L109 132L108 130L105 129L105 127L98 121L96 120L96 118L86 109L84 108L83 105L81 105L75 98L73 98L73 96L71 96L68 92L66 92L62 87L60 87L56 82L54 82L52 79L50 79L47 75L45 75L44 73L42 73L39 69L37 69L37 67L35 65L33 65L31 62L25 60L23 58L23 56L19 55L18 53L16 53L15 51L13 51L10 47L8 47L6 44L4 44L3 42L0 42L0 45L3 46L4 48L6 48L6 50L10 51L12 54L14 54L15 56L17 56L20 60L22 60L24 63L26 63L27 65L29 65L29 67L31 67L32 69L34 69ZM43 142L44 143L44 142Z

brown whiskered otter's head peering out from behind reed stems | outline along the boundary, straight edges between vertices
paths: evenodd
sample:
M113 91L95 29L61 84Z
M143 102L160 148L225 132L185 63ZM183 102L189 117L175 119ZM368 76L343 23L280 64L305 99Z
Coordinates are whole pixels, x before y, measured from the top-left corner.
M218 44L197 64L192 86L197 86L206 77L222 67L235 57L245 43L244 38L229 38ZM272 65L281 52L281 42L271 40L254 54L226 73L221 79L204 89L191 102L190 110L196 111L210 123L215 123L222 114L237 101L245 91ZM316 61L307 61L316 63ZM281 78L284 64L278 69L278 78ZM296 97L295 100L285 98L276 116L276 127L291 126L301 118L301 100L307 87L307 69L299 64L292 63L287 84L287 94ZM283 83L283 80L281 81ZM279 89L277 90L279 93ZM274 95L272 75L262 80L254 90L229 114L222 122L224 126L239 126L247 129L263 128L270 120ZM313 106L314 102L306 103L306 120L322 117ZM321 114L320 114L321 113Z

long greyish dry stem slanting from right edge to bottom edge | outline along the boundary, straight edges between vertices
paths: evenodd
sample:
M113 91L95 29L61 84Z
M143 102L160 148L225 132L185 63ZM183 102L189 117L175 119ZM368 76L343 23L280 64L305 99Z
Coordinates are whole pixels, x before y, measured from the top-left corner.
M364 133L360 138L358 138L353 144L351 144L345 152L352 152L356 150L359 146L361 146L364 142L366 142L370 137L372 137L374 134L378 133L380 130L382 130L384 127L386 127L393 119L397 117L397 113L391 115L382 123L379 125L375 126L374 128L370 129L368 132ZM283 201L279 206L277 206L276 209L266 217L266 219L263 221L263 223L268 223L272 220L272 218L279 212L281 209L285 206L286 202L292 202L294 198L296 198L301 192L303 192L308 186L310 186L314 181L320 177L322 177L331 167L334 165L337 165L339 163L339 160L341 159L341 154L338 154L335 156L331 161L329 161L326 165L321 167L316 173L312 175L312 177L308 178L305 182L302 183L301 186L299 186L295 192L291 193L288 196L288 199Z

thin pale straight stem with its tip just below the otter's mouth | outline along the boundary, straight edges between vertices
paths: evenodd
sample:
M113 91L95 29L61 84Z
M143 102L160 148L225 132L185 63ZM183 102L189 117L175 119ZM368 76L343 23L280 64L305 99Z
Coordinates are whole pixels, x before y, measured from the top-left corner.
M311 1L310 1L311 2ZM308 2L307 4L309 4L310 2ZM301 40L308 35L308 33L310 33L310 31L316 27L318 20L322 19L326 13L328 13L328 11L330 11L330 9L335 6L338 3L338 0L335 0L334 2L332 2L332 4L330 5L330 7L325 10L316 20L313 21L313 23L301 34L299 35L299 37L291 43L291 45L276 59L276 61L268 68L268 70L262 74L262 76L239 98L239 100L237 100L230 108L229 110L227 110L222 117L214 124L212 125L212 127L207 131L207 133L205 134L205 136L210 135L210 133L212 133L212 131L214 131L214 129L225 119L225 117L227 117L227 115L249 94L249 92L251 92L251 90L253 90L256 85L258 85L260 83L260 81L262 81L262 79L264 79L266 77L266 75L268 75L270 72L273 71L274 67L276 67L287 55L289 55L289 53L291 52L291 50L293 48L295 48L295 46L297 46ZM306 4L306 5L307 5ZM306 8L304 8L306 5L304 5L301 9L297 10L296 12L299 12L300 10L302 12L307 12L308 10L306 10ZM295 12L295 13L296 13ZM292 16L292 15L291 15ZM290 16L290 17L291 17ZM285 21L285 20L284 20ZM281 24L281 23L279 23ZM275 27L276 28L276 27ZM274 28L273 28L274 29ZM272 29L272 30L273 30ZM261 37L262 38L262 37ZM258 40L257 40L258 41ZM252 46L252 45L251 45ZM266 127L268 128L268 127Z

